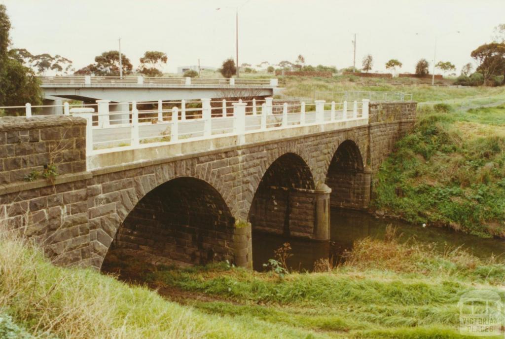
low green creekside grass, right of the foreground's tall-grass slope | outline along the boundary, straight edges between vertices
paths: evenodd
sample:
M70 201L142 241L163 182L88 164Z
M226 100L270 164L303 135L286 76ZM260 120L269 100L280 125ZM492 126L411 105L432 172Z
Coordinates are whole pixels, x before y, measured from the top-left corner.
M484 262L460 249L438 254L415 243L365 239L344 265L328 272L279 278L213 264L158 267L148 280L195 294L185 304L210 315L330 337L455 338L462 337L460 297L476 288L503 295L504 277L501 262Z

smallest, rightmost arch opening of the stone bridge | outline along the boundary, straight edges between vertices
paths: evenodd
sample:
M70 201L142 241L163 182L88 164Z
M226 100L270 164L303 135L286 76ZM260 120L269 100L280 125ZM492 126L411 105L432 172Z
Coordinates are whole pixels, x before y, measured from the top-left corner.
M332 207L364 209L370 202L371 173L355 141L341 142L333 154L326 174L331 188Z

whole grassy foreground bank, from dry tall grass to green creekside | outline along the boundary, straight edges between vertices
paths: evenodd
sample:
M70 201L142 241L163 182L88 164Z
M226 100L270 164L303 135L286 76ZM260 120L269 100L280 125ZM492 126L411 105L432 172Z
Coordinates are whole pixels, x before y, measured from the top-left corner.
M340 267L282 278L226 263L186 269L142 264L124 270L139 267L150 272L143 275L145 282L173 301L89 269L55 267L32 247L2 240L0 333L26 338L453 338L461 337L461 295L476 288L502 295L505 278L505 266L493 260L461 250L437 254L394 238L362 240ZM9 317L12 321L2 320Z

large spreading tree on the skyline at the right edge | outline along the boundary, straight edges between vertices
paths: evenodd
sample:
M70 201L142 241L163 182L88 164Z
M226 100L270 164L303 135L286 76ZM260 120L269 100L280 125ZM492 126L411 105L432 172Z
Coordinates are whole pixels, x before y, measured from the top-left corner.
M482 73L484 80L505 75L505 43L485 43L470 55L479 64L477 72Z

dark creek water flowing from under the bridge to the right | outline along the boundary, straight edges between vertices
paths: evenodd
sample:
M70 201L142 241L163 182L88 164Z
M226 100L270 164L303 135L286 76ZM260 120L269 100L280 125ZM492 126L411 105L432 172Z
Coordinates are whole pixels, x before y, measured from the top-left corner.
M263 264L274 258L274 251L288 242L291 254L287 264L291 269L311 271L314 262L321 258L340 259L345 250L351 250L354 241L371 237L383 239L386 226L392 224L400 234L399 240L415 238L419 243L433 244L435 250L462 246L480 258L505 253L505 241L496 238L480 238L441 227L422 227L396 219L379 218L360 211L331 209L330 241L310 241L300 238L288 238L280 235L252 232L252 263L257 271L264 270Z

